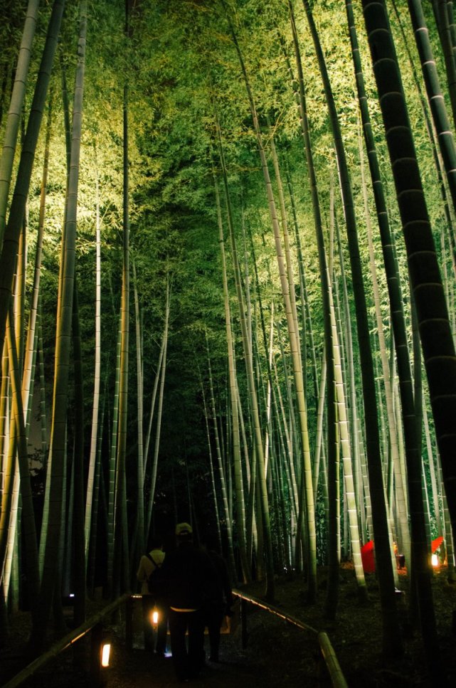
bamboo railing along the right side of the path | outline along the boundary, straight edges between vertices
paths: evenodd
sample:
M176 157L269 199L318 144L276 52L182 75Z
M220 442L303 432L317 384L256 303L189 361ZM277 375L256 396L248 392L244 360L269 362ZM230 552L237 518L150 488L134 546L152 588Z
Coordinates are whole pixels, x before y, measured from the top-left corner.
M331 640L329 640L329 636L327 635L327 633L312 628L312 626L307 625L306 623L295 618L294 616L284 614L280 609L277 609L277 607L275 607L274 605L268 604L264 600L260 600L251 595L245 595L245 593L243 593L240 590L233 590L233 595L240 598L240 623L242 633L242 644L244 650L245 647L247 647L248 642L247 604L249 603L255 605L256 607L259 607L260 609L264 609L270 614L278 616L287 623L290 623L293 626L297 626L297 628L301 628L302 630L307 630L309 631L309 633L312 633L319 645L320 656L322 662L324 662L324 665L327 668L332 685L334 686L334 688L348 688L348 684L345 680L344 674L342 673L339 661L337 660L336 653L334 652L334 647L332 647Z

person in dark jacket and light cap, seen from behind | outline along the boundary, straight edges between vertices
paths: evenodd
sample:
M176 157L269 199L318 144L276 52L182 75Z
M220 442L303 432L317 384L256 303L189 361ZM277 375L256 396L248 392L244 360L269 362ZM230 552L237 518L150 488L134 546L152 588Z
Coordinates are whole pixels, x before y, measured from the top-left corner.
M203 667L203 606L217 573L208 554L193 545L193 531L188 523L177 524L176 541L176 549L166 554L162 572L166 577L174 670L179 681L186 681L198 677Z

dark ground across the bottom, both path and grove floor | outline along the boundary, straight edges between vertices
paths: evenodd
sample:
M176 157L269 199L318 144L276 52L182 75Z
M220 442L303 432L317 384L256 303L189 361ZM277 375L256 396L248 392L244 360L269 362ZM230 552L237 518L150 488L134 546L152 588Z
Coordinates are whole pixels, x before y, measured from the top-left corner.
M408 623L408 583L402 572L400 603L404 630L405 652L400 660L385 662L381 656L382 624L380 600L376 578L367 577L370 601L360 605L356 596L356 582L351 567L341 569L339 605L336 620L324 619L324 571L320 572L321 590L317 604L306 602L305 585L299 576L277 581L275 605L282 612L299 618L318 630L326 630L350 688L431 688L435 680L428 677L425 668L423 643L418 633L411 633ZM249 587L248 593L261 598L263 584ZM445 667L448 685L456 685L456 586L447 583L445 571L433 578L435 614L438 623L441 666ZM98 603L100 605L100 603ZM221 638L221 662L207 662L201 678L192 682L195 688L297 688L329 685L326 674L318 681L319 652L314 636L285 623L258 608L248 607L248 646L242 647L240 625ZM95 613L98 608L90 609ZM90 613L88 615L90 616ZM25 614L15 615L11 623L11 643L7 652L0 653L0 685L21 666L21 649L28 635ZM236 619L234 619L235 626ZM170 657L159 659L142 650L140 602L134 615L133 650L123 642L122 625L110 629L113 639L112 667L107 670L107 686L111 688L161 688L178 685ZM206 651L208 639L206 637ZM59 686L92 687L87 665L83 660L73 661L73 650L65 652L28 682L36 688ZM3 679L2 679L3 676ZM443 684L439 683L439 687Z

